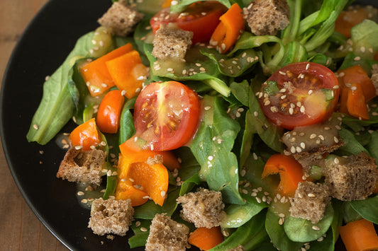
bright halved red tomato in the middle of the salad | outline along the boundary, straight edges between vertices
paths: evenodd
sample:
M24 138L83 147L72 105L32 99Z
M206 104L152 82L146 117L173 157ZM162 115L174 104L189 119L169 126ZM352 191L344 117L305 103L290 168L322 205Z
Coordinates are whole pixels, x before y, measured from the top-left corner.
M199 112L199 97L191 88L176 81L150 83L135 101L135 136L145 149L179 148L196 132Z

